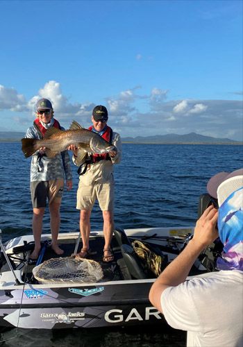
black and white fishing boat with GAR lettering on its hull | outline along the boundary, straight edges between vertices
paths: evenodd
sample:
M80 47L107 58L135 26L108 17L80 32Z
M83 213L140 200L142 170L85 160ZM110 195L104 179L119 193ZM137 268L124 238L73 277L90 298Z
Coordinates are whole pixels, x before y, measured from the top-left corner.
M55 276L54 280L42 281L35 272L37 266L50 260L72 259L81 248L78 231L59 234L58 242L64 250L61 257L51 249L51 234L42 235L42 251L36 264L29 261L33 235L15 237L6 244L0 241L0 326L58 329L165 323L149 302L149 289L158 276L156 271L165 268L185 248L193 232L194 226L115 228L111 243L115 260L110 263L102 260L103 232L91 232L90 247L97 253L90 261L99 264L102 271L99 280L91 281L67 277L60 282ZM137 251L141 245L142 256ZM215 271L218 248L217 243L206 248L190 276ZM157 260L160 269L156 269Z

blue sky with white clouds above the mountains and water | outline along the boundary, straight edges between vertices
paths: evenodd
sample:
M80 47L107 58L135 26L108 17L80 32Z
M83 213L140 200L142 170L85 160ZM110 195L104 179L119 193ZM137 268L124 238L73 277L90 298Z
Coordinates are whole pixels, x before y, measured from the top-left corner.
M242 140L242 1L0 1L0 131L41 97L69 127Z

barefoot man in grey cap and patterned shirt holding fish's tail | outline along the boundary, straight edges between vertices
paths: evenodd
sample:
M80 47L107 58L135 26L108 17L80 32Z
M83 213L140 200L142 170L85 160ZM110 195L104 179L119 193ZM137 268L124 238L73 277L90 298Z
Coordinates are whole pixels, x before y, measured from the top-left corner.
M40 99L36 105L36 118L33 126L27 129L25 137L42 139L48 128L54 126L65 130L59 122L53 118L53 107L48 99ZM33 235L35 249L31 253L31 260L36 260L40 253L40 239L42 234L42 219L44 210L49 200L51 217L51 247L53 251L61 255L62 249L58 246L58 232L60 227L60 203L66 180L67 190L72 189L72 168L67 151L54 158L47 158L42 148L35 152L31 160L31 200L33 204Z

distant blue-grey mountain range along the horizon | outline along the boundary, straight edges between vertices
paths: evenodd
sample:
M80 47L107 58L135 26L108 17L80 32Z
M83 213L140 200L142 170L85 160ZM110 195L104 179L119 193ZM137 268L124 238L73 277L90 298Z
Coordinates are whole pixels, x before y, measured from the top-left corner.
M24 135L25 133L19 131L0 131L0 141L20 141ZM196 133L122 137L122 142L133 144L243 144L243 142L233 139L220 139Z

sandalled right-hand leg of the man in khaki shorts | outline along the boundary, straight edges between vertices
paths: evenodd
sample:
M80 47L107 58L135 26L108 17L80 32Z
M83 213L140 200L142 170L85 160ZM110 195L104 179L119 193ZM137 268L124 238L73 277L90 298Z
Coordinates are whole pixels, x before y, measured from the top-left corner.
M110 262L114 259L112 252L110 251L110 242L112 239L114 229L113 212L103 211L103 235L105 238L104 246L104 258L106 262Z

